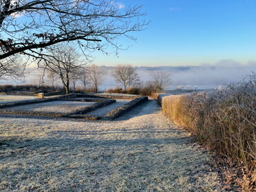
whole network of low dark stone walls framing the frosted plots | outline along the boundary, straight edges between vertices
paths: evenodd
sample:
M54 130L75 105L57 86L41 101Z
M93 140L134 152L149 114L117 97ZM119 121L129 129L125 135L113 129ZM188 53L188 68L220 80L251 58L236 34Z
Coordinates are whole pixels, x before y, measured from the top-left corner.
M27 116L51 116L51 117L68 117L68 118L84 118L84 119L91 119L91 120L113 120L114 118L117 118L118 116L124 114L125 112L129 111L133 107L136 107L137 105L140 105L140 103L143 103L148 100L147 96L140 96L135 98L134 100L131 100L129 103L122 105L121 107L118 107L112 111L110 111L105 116L90 116L86 115L87 112L93 111L96 109L99 109L100 107L104 107L106 105L110 105L112 103L115 103L116 100L114 99L106 99L106 98L100 98L98 96L95 96L95 98L83 98L81 100L74 99L78 98L79 96L85 97L85 94L68 94L65 96L58 96L54 98L43 98L43 99L34 99L34 100L24 100L24 101L17 101L12 103L3 103L0 104L0 114L16 114L16 115L27 115ZM124 96L121 97L124 99ZM128 99L127 96L125 98ZM129 97L131 99L131 97ZM83 107L82 109L76 109L69 113L59 113L59 112L46 112L46 111L23 111L23 110L10 110L10 109L4 109L7 107L14 107L19 105L29 105L29 104L36 104L36 103L43 103L43 102L50 102L54 100L75 100L75 101L85 101L85 102L97 102L93 105Z

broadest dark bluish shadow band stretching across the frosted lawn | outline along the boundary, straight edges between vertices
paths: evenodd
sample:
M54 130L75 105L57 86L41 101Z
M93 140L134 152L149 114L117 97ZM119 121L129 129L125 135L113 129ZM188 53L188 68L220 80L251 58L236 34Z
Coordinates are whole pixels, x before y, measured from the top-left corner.
M150 145L162 145L162 144L173 144L173 145L188 145L195 143L195 140L191 137L183 136L177 137L167 137L164 139L158 138L135 138L135 139L116 139L116 140L94 140L92 138L85 139L74 139L74 138L37 138L37 139L21 139L17 138L15 140L5 139L1 140L0 151L3 153L5 150L10 149L20 149L24 150L24 154L28 151L41 151L41 149L47 149L54 151L56 147L61 147L63 150L72 151L73 149L78 149L79 147L132 147L134 145L149 147ZM20 153L20 151L19 151ZM12 153L14 156L15 153ZM3 156L2 156L3 158Z

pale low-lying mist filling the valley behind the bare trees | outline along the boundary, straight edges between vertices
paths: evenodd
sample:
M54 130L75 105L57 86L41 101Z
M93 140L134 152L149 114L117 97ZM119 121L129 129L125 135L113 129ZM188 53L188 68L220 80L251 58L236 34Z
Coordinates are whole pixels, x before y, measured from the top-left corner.
M105 81L100 85L100 90L106 90L116 87L118 84L111 76L114 67L103 67L105 70ZM136 67L140 81L147 82L151 80L151 73L156 71L165 71L171 73L172 84L168 89L176 89L183 85L184 89L188 87L198 87L198 89L211 89L224 86L229 83L242 81L244 76L256 71L256 62L248 62L246 65L232 60L223 60L213 65L204 64L200 66L160 66L160 67ZM38 84L41 73L38 70L28 68L25 78L20 81L13 81L10 78L0 80L1 84ZM45 77L45 83L47 79ZM59 84L61 85L61 84ZM79 83L78 83L78 86ZM119 85L121 87L121 85ZM180 86L181 87L181 86Z

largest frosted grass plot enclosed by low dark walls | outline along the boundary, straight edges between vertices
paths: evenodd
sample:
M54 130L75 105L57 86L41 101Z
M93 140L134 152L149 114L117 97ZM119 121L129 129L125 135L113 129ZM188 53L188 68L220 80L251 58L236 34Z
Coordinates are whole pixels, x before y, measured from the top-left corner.
M21 105L15 107L8 107L8 110L24 110L24 111L43 111L43 112L56 112L56 113L69 113L76 109L81 109L95 102L80 102L70 100L55 100L45 103L35 103L30 105Z

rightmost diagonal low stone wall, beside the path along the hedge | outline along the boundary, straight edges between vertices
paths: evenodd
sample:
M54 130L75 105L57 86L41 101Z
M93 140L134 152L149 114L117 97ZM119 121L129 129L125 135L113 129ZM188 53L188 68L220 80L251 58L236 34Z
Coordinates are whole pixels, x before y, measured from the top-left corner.
M143 103L147 100L149 100L147 96L142 96L140 98L131 100L129 103L122 105L121 107L118 107L110 111L109 113L107 113L105 116L103 116L103 120L114 120L114 118L117 118L118 116L124 114L125 112L129 111L133 107L136 107L137 105L140 105L140 103Z

